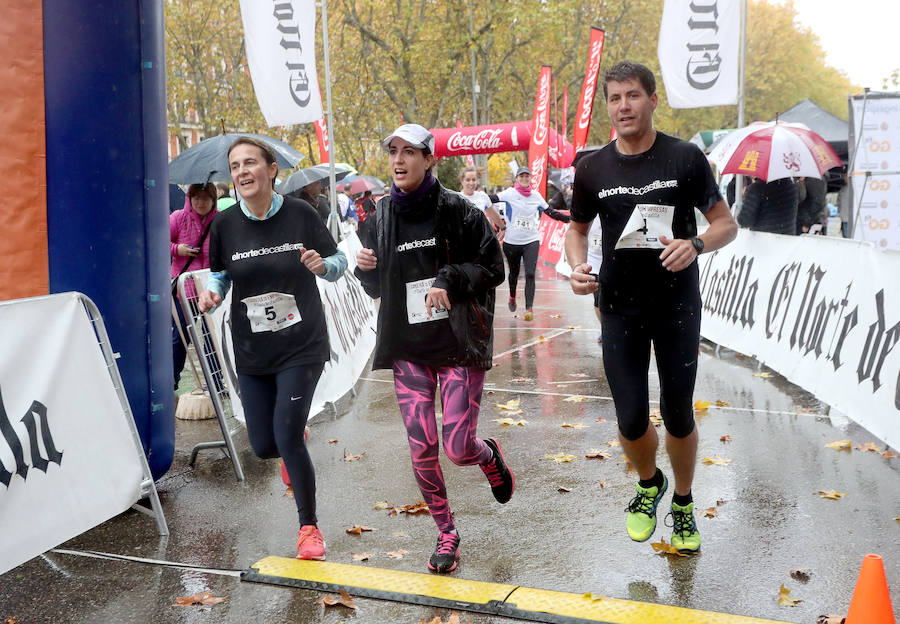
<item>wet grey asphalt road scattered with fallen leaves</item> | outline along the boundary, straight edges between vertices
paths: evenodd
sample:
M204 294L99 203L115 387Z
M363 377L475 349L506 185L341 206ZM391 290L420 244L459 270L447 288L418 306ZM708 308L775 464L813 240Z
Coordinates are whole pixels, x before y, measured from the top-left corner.
M698 556L668 558L655 554L650 542L631 542L624 508L636 476L627 472L621 449L609 444L616 437L615 415L600 364L599 323L590 298L576 297L544 268L540 273L533 322L507 312L507 291L498 289L498 357L487 376L479 425L479 435L501 441L515 471L512 501L497 504L476 467L442 461L462 535L455 575L811 623L819 614L846 613L862 558L874 552L884 557L894 609L900 610L900 522L894 519L900 516L900 459L825 448L845 438L854 445L883 444L841 415L826 415L827 406L778 375L757 376L755 361L724 350L716 354L707 343L695 398L713 406L698 416L699 455L732 461L698 465L694 500L699 509L724 503L717 517L698 518ZM520 285L519 315L521 297ZM367 372L356 389L355 398L346 397L311 425L328 559L352 563L351 553L368 552L371 558L356 565L424 572L437 535L433 521L373 508L378 501L405 505L419 497L390 375ZM591 398L565 401L570 395ZM651 375L651 398L657 397ZM521 401L522 414L513 418L527 420L524 427L494 422L508 415L495 405L511 399ZM715 407L717 400L728 405ZM565 423L584 427L563 428ZM179 421L177 429L175 464L158 483L171 535L158 537L150 519L128 512L63 547L223 569L247 568L268 555L292 556L296 515L278 462L255 458L242 432L236 442L245 482L235 480L219 451L201 453L191 468L192 445L214 439L217 427ZM731 441L720 441L726 435ZM346 462L345 449L365 455ZM585 459L589 449L611 456ZM576 459L544 459L560 452ZM670 473L665 454L659 457ZM847 496L825 500L814 494L818 490ZM344 532L355 524L378 530ZM669 540L670 533L660 523L651 541ZM402 559L385 554L399 549L408 551ZM809 568L809 580L794 580L791 568ZM803 602L779 606L782 583ZM228 598L205 609L172 606L177 596L202 591ZM316 603L321 596L216 573L47 553L0 576L0 621L416 624L449 615L369 599L358 599L357 611L326 610ZM512 621L460 615L473 624Z

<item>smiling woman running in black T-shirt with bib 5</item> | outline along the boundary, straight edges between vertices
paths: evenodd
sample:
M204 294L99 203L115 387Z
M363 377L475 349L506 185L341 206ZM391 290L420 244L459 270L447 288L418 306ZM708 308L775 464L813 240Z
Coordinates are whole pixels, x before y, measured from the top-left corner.
M330 355L317 277L337 280L347 258L315 208L274 192L278 165L265 143L240 137L228 150L238 207L210 231L210 269L199 307L219 305L233 285L231 334L247 436L258 457L282 457L300 520L298 559L324 559L316 477L303 432Z

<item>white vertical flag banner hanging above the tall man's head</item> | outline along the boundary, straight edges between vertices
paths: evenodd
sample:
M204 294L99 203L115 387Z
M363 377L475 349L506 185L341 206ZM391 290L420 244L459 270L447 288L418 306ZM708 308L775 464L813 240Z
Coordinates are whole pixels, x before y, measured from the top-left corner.
M740 0L666 0L659 66L672 108L737 104Z

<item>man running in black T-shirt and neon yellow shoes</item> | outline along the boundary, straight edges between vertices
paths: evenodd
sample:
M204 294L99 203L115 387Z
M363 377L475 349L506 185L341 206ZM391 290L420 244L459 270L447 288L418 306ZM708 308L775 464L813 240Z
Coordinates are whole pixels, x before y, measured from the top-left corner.
M566 254L572 290L600 289L603 366L622 448L637 469L637 495L626 527L642 542L656 529L656 508L668 480L656 466L659 440L650 423L650 346L659 370L660 411L675 477L672 545L700 549L691 483L697 461L693 392L700 345L697 256L731 242L737 225L703 152L653 128L656 79L644 65L623 61L604 76L603 95L618 138L585 156L575 170ZM709 221L697 236L694 209ZM591 275L588 231L599 215L603 265Z

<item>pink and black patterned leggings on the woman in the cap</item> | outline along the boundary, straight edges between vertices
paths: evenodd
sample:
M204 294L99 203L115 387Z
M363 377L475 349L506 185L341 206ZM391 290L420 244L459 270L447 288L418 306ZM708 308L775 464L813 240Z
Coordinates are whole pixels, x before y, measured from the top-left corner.
M394 389L400 403L400 414L409 437L413 474L422 497L431 509L438 529L447 533L455 528L444 474L438 462L437 419L434 394L441 382L441 405L444 414L444 452L454 464L471 466L486 464L493 453L475 437L484 370L463 366L432 368L405 360L394 361Z

